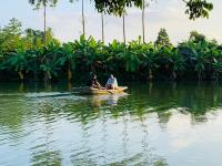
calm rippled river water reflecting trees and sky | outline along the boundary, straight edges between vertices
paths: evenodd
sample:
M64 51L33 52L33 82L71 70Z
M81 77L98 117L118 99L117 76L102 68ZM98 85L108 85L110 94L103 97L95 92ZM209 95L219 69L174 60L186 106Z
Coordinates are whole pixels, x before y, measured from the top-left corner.
M0 166L222 165L222 84L150 83L78 96L0 84Z

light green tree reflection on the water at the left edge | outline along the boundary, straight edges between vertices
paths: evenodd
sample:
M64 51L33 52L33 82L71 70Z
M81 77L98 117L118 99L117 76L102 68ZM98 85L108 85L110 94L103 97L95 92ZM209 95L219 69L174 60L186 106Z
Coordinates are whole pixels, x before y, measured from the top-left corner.
M27 103L23 103L23 96L6 95L0 100L0 137L7 138L11 145L19 145L27 135L22 129L27 117L26 110ZM3 135L2 135L2 133ZM0 141L1 143L1 141Z

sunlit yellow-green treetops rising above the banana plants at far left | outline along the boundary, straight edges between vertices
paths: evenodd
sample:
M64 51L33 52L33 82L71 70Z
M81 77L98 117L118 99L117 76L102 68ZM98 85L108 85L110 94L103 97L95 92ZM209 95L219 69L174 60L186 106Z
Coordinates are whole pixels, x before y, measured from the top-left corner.
M21 30L21 22L17 19L11 19L9 24L0 28L0 52L8 53L14 52L18 48L24 49L39 49L44 46L44 32L40 30L27 29ZM52 30L46 31L46 43L59 44L59 41L54 39Z

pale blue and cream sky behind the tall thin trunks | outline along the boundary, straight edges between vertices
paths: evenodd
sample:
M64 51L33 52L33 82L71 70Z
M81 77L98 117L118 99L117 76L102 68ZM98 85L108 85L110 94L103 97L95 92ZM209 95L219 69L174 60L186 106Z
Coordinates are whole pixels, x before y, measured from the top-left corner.
M85 33L101 40L101 14L99 14L90 0L85 2ZM165 28L173 44L189 38L190 31L196 30L209 39L215 39L222 43L222 1L210 0L214 10L209 19L189 20L184 13L185 6L182 0L154 0L145 9L145 41L155 41L161 28ZM22 23L22 29L43 29L43 11L33 10L28 0L7 0L0 6L0 27L3 28L10 19L17 18ZM81 1L70 3L69 0L60 0L56 8L47 9L47 27L52 28L56 38L62 42L79 39L82 33ZM141 10L131 8L125 17L127 40L135 40L142 34ZM122 19L104 17L105 42L113 39L123 40Z

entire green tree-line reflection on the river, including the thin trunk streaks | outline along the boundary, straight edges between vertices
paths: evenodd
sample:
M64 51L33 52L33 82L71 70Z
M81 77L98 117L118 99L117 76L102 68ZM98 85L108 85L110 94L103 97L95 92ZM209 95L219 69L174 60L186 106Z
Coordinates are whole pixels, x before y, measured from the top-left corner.
M67 85L65 85L67 86ZM26 87L26 86L24 86ZM41 89L44 89L41 87ZM0 89L1 91L2 87ZM27 87L24 90L28 90ZM30 90L28 90L30 91ZM44 90L43 90L44 91ZM52 91L51 87L46 91ZM18 86L14 90L18 92ZM71 162L74 165L83 165L88 163L89 165L95 165L94 158L90 156L89 143L89 125L92 122L95 122L98 118L101 118L101 144L102 144L102 155L104 163L108 162L108 154L105 149L105 142L108 141L108 125L107 121L110 118L115 120L123 117L123 132L122 132L122 151L125 152L128 156L129 152L129 138L130 138L130 127L129 116L140 123L140 128L142 131L141 145L143 147L141 154L135 156L128 156L124 163L130 163L134 158L148 158L151 159L153 165L167 165L167 160L161 157L149 158L152 155L149 147L149 126L145 124L149 113L154 113L158 116L158 122L160 127L164 129L170 118L173 115L173 111L180 112L181 114L190 115L192 124L204 123L208 121L208 112L213 113L213 111L221 106L222 103L222 89L220 84L194 84L194 83L150 83L148 85L134 85L130 90L131 95L128 97L120 97L117 105L109 105L107 102L108 98L97 98L95 96L87 96L88 100L73 101L69 100L58 100L58 98L37 98L29 103L29 98L23 96L3 96L0 100L0 127L7 127L10 131L10 134L14 134L11 137L19 137L24 133L17 133L22 131L22 126L26 122L32 123L34 120L31 118L42 118L43 120L43 143L42 145L34 146L32 151L32 163L33 164L54 164L61 165L62 156L61 152L54 149L56 147L51 144L53 142L53 122L57 118L67 118L68 122L77 122L81 124L82 128L82 138L84 138L85 152L82 152L81 155L74 154L71 156ZM27 101L28 100L28 101ZM16 101L16 102L13 102ZM97 103L101 103L99 106ZM27 107L27 104L32 105ZM173 111L172 111L173 110ZM37 117L38 115L38 117ZM128 143L129 142L129 143ZM144 154L149 156L144 156ZM48 162L48 163L46 163ZM122 164L122 163L120 163Z

